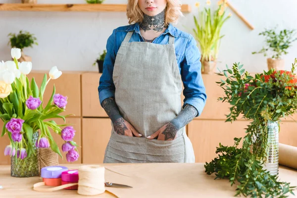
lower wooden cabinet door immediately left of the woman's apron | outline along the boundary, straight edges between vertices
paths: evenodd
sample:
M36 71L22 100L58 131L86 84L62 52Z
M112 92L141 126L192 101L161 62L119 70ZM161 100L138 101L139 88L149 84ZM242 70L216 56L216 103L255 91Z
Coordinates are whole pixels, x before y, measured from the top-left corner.
M102 163L111 135L109 118L83 118L83 163Z

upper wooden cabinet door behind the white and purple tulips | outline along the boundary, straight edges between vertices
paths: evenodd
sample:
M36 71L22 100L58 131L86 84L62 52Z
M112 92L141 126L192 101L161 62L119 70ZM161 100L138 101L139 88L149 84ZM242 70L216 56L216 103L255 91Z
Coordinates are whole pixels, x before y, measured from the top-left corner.
M45 73L48 71L33 71L28 75L28 79L34 77L38 87L40 88ZM80 72L65 72L58 79L50 80L44 93L44 105L47 104L52 94L53 85L56 88L56 94L67 96L67 105L61 115L74 114L73 116L81 116L81 73Z

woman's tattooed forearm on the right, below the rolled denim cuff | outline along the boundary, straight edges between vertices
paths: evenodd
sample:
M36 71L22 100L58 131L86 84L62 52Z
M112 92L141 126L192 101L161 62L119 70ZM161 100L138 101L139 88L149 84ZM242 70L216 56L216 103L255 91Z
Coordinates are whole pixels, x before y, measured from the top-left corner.
M178 129L181 129L182 127L189 124L198 114L197 109L187 104L185 108L174 118L171 123L174 124Z

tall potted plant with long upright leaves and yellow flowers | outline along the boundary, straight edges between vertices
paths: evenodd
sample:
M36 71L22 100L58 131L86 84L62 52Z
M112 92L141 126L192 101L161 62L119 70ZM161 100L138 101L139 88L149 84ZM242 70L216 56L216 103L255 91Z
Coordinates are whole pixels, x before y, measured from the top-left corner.
M210 0L207 0L206 4L210 5ZM196 6L198 7L199 3L196 3ZM225 17L226 6L226 2L220 0L218 8L213 13L208 7L199 12L198 19L194 16L194 37L200 45L201 72L204 74L213 73L216 66L220 40L223 37L220 32L225 21L231 16L229 14Z

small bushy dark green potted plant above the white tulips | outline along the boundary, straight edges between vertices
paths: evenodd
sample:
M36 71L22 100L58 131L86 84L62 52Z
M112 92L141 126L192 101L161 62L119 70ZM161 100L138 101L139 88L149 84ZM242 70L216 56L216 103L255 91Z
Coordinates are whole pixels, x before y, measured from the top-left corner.
M23 32L20 30L19 34L9 33L9 42L7 45L10 44L11 48L17 48L21 49L21 57L18 59L19 62L22 61L32 61L32 58L28 55L24 54L23 49L24 48L33 48L33 45L38 45L36 42L37 38L29 33L29 32Z

